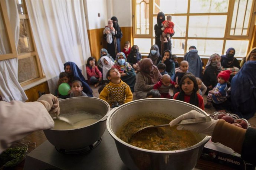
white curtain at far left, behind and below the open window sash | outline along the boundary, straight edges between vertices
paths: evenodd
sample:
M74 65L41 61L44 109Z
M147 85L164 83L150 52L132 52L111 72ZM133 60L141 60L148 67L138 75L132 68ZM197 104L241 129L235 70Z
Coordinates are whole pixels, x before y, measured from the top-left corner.
M16 49L19 41L20 19L16 0L6 0L6 9L15 38ZM2 16L3 17L3 16ZM1 26L2 27L2 26ZM3 27L2 27L3 28ZM0 34L0 55L6 54L4 43L7 42ZM27 96L18 82L18 59L12 58L0 61L0 93L4 101L26 101Z

